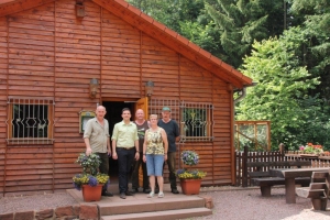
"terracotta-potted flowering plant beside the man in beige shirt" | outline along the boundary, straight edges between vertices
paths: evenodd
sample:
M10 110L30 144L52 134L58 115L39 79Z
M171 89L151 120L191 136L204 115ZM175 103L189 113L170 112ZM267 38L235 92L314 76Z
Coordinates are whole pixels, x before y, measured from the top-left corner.
M91 153L87 156L85 153L80 153L76 163L80 164L82 173L73 177L75 188L77 190L82 189L85 201L99 201L102 186L109 184L109 176L98 173L101 163L99 155Z

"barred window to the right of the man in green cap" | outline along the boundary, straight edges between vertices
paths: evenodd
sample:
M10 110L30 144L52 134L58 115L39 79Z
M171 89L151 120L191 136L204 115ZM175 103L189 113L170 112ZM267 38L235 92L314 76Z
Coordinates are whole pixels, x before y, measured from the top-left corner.
M212 105L182 102L182 139L186 141L212 141Z

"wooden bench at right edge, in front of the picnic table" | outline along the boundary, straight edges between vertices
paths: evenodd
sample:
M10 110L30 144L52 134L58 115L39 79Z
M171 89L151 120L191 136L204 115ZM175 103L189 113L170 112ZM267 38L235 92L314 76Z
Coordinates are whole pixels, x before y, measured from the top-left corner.
M309 187L296 188L296 194L304 198L310 198L315 210L327 210L329 196L329 172L314 172Z

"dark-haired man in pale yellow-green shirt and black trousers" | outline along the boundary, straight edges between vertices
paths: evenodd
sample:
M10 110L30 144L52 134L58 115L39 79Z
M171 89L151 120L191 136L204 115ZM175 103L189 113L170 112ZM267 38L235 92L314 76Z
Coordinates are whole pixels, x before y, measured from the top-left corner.
M118 160L118 178L120 198L133 196L129 191L129 174L133 160L140 157L139 154L139 136L136 124L130 121L131 110L124 108L121 113L122 121L114 124L112 132L112 158Z

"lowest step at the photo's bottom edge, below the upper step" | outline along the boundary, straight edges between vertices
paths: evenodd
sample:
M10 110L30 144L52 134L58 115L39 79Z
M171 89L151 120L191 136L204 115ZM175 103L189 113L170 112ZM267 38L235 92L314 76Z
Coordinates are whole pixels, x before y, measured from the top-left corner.
M140 213L125 213L125 215L114 215L114 216L102 216L101 220L175 220L175 219L185 219L191 217L202 217L212 215L212 211L207 208L190 208L190 209L176 209L176 210L166 210L166 211L150 211L150 212L140 212Z

